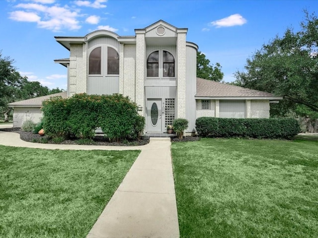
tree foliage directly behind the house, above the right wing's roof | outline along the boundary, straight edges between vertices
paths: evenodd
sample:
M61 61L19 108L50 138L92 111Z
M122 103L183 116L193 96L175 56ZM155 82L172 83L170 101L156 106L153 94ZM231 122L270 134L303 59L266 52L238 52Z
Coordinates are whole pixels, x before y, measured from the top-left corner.
M220 82L224 76L221 68L220 63L217 62L215 66L210 65L210 60L200 51L197 52L197 77Z

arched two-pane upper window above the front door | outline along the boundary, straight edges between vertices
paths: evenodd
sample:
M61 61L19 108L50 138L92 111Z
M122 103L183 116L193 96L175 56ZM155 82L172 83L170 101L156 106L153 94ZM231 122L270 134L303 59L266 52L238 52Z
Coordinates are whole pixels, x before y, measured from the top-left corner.
M147 59L147 77L174 77L172 54L167 51L151 53Z

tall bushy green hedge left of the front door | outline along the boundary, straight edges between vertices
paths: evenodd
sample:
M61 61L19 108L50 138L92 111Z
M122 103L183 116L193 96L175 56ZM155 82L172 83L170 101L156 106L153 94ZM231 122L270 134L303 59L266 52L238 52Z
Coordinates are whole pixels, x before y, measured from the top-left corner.
M137 105L121 94L76 94L71 98L44 101L43 128L51 136L92 138L100 127L110 141L137 137L144 129L145 118Z

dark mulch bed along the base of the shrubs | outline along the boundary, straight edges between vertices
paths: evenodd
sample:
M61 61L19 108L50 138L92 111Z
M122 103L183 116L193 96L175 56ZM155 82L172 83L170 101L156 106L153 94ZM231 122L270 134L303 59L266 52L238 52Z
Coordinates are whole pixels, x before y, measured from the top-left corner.
M57 143L52 138L44 135L40 136L39 134L33 134L31 131L22 131L19 127L11 127L11 128L1 128L2 131L9 131L9 132L16 132L20 134L21 140L27 142L34 142L34 143L47 143L47 144L67 144L67 145L106 145L106 146L139 146L139 145L146 145L149 143L149 140L125 140L120 143L117 142L110 142L104 136L95 136L92 140L86 140L84 143L82 140L78 138L66 139L61 143ZM182 140L178 138L171 138L171 141L178 142L178 141L197 141L200 138L197 136L186 136Z

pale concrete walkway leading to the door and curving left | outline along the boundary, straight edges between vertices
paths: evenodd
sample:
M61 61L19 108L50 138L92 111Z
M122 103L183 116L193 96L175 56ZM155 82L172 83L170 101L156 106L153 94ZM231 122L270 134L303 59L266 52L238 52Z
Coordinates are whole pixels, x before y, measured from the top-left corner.
M2 127L3 128L3 127ZM87 238L178 238L170 138L151 138L143 146L37 144L0 131L7 146L67 150L142 150Z

